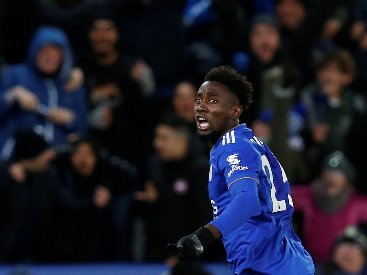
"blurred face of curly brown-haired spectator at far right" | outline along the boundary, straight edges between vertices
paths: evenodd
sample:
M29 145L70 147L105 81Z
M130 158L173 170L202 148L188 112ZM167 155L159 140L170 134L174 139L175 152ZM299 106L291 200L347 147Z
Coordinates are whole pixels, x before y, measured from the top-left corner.
M341 90L350 83L351 77L342 73L335 62L330 62L317 73L321 90L328 96L338 96Z

